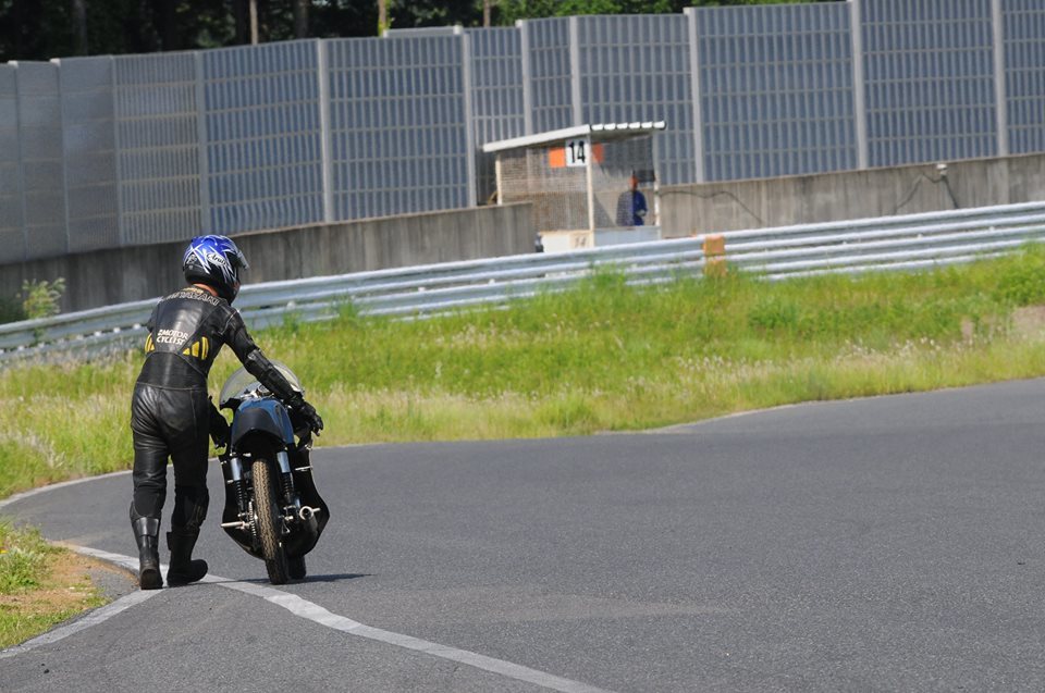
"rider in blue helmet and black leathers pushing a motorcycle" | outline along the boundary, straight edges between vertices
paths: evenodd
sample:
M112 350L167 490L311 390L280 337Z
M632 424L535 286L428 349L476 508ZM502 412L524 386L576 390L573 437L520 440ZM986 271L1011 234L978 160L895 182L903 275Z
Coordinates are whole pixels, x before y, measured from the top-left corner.
M167 582L182 585L207 574L207 562L192 555L209 503L207 438L213 437L219 447L229 442L229 424L207 396L207 375L222 345L228 344L247 371L312 432L323 428L316 409L261 354L231 306L239 290L239 272L246 269L246 258L230 238L193 238L182 260L189 286L161 299L149 318L145 363L131 399L131 524L143 590L163 586L159 533L168 457L174 466L174 510L167 534L171 550Z

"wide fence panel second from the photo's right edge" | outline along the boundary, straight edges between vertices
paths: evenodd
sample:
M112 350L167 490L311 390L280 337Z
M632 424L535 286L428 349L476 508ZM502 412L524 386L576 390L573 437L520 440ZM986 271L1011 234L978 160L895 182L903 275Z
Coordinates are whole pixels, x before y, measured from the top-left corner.
M991 0L862 0L869 163L998 151Z

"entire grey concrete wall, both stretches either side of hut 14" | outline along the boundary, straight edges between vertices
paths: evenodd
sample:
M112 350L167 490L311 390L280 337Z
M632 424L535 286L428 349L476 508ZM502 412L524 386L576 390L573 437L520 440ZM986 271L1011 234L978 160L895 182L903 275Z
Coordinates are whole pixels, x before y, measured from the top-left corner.
M962 208L1045 199L1045 154L948 163ZM667 237L954 209L935 165L668 186L661 190ZM533 251L530 205L481 207L236 236L248 283L344 274ZM65 277L64 312L161 296L182 283L188 238L0 265L0 297L24 280Z

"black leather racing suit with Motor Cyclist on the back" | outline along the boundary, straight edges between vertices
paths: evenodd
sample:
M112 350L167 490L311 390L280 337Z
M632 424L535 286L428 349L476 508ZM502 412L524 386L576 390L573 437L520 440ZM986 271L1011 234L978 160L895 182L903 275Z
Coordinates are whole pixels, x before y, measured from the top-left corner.
M174 465L172 530L198 532L207 516L207 438L224 420L207 396L207 375L222 345L247 371L292 407L302 395L265 358L243 318L226 300L189 286L152 310L145 364L131 400L134 499L131 521L160 519L167 497L167 460Z

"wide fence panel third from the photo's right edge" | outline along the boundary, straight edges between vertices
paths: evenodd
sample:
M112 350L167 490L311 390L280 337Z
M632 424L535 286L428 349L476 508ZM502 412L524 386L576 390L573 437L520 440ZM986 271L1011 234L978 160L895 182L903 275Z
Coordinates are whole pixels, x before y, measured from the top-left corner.
M693 13L709 180L857 168L848 10Z

